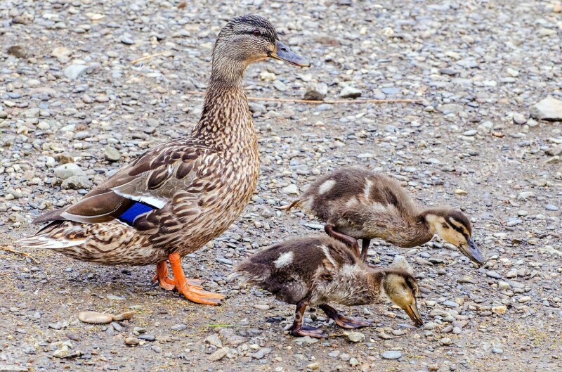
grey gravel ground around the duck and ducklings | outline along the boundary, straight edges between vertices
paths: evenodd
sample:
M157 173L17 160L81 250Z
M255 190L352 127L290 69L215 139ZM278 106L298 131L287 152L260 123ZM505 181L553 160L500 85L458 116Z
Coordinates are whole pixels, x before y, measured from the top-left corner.
M251 101L256 193L221 238L183 260L228 296L221 307L165 292L150 282L154 267L0 251L0 371L560 371L561 3L236 3L1 1L0 244L20 249L37 214L188 134L202 97L187 92L204 91L214 39L234 15L265 15L313 62L252 65L249 96L421 101ZM283 331L294 307L226 276L262 247L320 233L306 214L274 207L346 165L392 174L420 203L460 207L489 261L477 269L439 240L375 243L372 263L400 254L413 265L426 325L385 303L339 307L377 323L346 336L307 313L332 332L311 343ZM78 320L86 309L135 314L99 326Z

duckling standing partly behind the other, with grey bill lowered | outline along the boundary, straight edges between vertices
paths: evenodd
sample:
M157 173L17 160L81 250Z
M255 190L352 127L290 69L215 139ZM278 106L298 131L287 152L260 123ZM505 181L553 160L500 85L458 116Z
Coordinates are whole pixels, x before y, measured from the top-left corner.
M329 236L359 250L365 261L373 238L402 248L424 244L437 234L478 265L485 259L472 239L470 220L450 207L420 209L396 179L360 167L336 170L315 181L292 204L325 221Z

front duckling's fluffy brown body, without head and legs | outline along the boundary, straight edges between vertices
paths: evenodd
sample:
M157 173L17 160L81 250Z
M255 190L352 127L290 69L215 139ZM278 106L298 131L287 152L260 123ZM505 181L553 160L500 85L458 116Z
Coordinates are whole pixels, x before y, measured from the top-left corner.
M236 270L234 276L289 304L303 300L309 304L372 300L373 288L366 283L367 267L357 252L329 236L277 243L244 260Z

